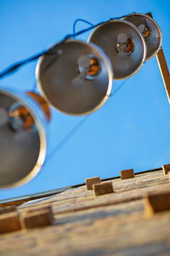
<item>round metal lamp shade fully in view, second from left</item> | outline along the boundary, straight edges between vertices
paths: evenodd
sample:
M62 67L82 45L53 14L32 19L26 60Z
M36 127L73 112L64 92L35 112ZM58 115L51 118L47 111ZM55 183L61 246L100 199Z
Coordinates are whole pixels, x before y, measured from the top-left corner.
M94 73L86 69L88 58L98 63ZM94 44L67 40L37 63L37 84L42 95L62 113L84 115L100 108L112 87L111 63Z

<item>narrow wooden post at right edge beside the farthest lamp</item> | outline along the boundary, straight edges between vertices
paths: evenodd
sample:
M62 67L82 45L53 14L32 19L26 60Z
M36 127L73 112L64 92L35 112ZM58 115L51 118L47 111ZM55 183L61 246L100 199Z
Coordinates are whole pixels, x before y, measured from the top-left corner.
M151 13L148 13L146 15L153 18ZM164 83L165 89L167 91L167 98L170 103L170 74L169 74L169 70L167 67L167 61L166 61L166 58L165 58L162 48L158 51L158 53L156 55L156 59L157 59L158 66L160 68L161 78L163 79L163 83Z

